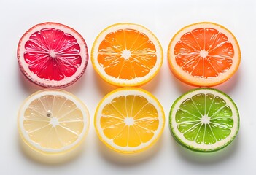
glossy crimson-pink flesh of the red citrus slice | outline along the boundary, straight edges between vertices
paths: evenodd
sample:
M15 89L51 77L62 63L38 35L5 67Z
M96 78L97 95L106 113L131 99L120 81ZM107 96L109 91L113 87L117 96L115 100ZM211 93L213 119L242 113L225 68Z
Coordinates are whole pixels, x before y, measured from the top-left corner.
M39 78L60 81L71 77L82 63L77 39L55 28L43 28L25 44L28 68Z

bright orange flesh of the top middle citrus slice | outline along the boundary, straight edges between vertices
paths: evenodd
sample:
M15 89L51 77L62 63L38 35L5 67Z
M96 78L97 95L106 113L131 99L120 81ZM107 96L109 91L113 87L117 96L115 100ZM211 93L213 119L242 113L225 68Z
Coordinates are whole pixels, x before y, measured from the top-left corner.
M98 63L109 76L131 80L150 72L157 60L155 52L155 45L145 34L119 29L107 34L99 45Z

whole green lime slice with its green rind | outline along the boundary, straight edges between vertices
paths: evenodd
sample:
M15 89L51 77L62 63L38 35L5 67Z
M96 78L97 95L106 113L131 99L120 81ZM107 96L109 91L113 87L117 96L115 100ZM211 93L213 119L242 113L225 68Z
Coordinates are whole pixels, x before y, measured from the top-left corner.
M198 88L179 97L171 106L170 128L184 147L217 151L235 139L239 129L238 109L225 93Z

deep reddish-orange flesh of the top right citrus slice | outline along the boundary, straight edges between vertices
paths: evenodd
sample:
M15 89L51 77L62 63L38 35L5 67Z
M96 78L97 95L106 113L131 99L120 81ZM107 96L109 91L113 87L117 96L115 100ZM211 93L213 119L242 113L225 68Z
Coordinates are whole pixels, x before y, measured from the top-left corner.
M196 28L174 47L177 64L193 77L218 77L230 69L234 49L225 34L214 28Z

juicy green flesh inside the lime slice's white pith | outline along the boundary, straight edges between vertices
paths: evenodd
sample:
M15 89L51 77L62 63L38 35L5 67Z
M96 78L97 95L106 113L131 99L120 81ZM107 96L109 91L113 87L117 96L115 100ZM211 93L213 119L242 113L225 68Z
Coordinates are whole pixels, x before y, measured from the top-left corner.
M230 135L233 128L230 106L219 96L199 93L187 98L175 114L179 132L189 141L214 144Z

